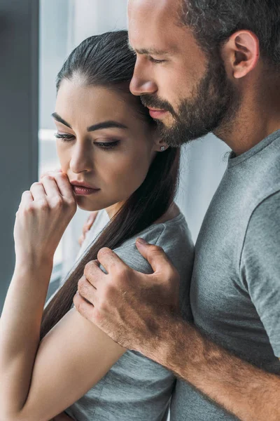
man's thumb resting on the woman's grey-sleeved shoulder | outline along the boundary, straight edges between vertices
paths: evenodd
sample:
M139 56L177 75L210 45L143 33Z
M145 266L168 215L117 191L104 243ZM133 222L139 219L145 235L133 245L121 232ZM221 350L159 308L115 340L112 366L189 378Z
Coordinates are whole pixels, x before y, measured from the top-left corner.
M137 239L136 245L141 255L148 260L155 273L164 273L168 276L169 272L172 272L172 269L174 269L172 262L161 247L149 244L143 239Z

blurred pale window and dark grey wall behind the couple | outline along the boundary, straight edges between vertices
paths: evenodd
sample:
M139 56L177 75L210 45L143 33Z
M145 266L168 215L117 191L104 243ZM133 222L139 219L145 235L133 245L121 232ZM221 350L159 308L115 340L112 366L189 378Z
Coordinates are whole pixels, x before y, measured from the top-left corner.
M50 117L57 72L87 36L125 28L127 0L0 2L0 313L15 264L13 225L21 194L43 172L59 168ZM228 151L214 135L183 147L176 201L194 241L225 171ZM48 297L76 259L87 216L78 209L62 237Z

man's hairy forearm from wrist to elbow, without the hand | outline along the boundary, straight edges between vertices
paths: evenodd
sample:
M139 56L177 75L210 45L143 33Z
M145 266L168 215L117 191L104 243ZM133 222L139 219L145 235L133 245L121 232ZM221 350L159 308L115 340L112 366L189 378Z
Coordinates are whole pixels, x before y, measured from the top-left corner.
M280 420L280 377L233 356L183 320L163 323L156 349L141 352L241 421Z

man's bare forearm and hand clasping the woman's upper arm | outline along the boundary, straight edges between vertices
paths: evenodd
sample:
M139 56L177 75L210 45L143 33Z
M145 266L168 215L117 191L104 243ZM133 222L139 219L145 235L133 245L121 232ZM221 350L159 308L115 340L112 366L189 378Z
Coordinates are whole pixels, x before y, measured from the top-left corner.
M108 248L100 250L97 258L108 275L97 265L88 268L79 290L83 297L73 300L80 314L120 345L172 370L241 421L280 420L280 377L242 361L175 316L176 269L161 248L139 241L137 247L154 273L138 274Z

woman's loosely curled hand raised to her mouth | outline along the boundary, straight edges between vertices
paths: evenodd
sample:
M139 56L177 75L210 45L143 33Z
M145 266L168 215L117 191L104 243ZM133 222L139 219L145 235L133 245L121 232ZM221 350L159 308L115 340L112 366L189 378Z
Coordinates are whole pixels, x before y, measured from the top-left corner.
M76 209L76 196L65 173L50 171L34 182L30 190L23 192L16 213L16 262L20 265L52 262Z

